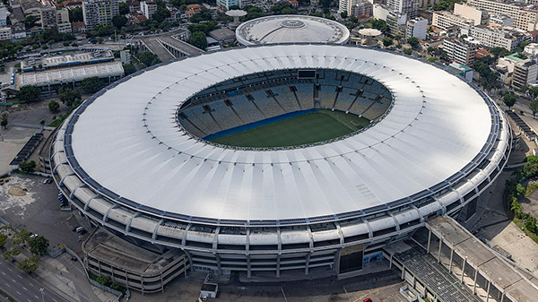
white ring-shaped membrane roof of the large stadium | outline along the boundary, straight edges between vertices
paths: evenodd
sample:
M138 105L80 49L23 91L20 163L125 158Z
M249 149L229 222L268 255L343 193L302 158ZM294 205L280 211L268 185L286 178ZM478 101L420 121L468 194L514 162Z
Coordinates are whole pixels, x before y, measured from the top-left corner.
M360 134L290 150L221 148L178 127L178 107L196 92L287 68L365 74L393 92L394 107ZM489 105L456 76L395 53L336 45L190 57L119 83L81 109L65 148L84 182L130 206L217 220L304 219L386 206L464 177L493 133Z

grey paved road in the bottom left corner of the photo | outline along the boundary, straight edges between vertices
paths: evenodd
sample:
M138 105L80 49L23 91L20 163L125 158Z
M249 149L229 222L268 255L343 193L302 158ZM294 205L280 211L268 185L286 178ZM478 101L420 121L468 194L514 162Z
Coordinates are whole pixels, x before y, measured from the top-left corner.
M0 289L18 302L68 302L4 259L0 259ZM44 289L44 299L39 289Z

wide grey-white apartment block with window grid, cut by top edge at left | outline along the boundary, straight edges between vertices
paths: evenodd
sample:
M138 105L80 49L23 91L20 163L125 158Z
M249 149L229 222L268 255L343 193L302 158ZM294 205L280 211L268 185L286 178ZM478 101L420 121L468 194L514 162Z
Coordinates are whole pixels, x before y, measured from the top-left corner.
M118 0L86 0L82 2L82 16L86 30L91 30L100 24L110 24L112 18L118 14Z

